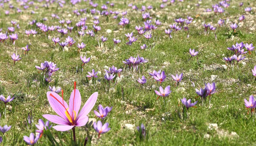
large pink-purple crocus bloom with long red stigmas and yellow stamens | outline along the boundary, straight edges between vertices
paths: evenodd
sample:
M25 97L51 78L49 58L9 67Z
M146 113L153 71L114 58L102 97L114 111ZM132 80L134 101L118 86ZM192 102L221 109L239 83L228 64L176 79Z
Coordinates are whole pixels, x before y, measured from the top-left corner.
M57 131L68 131L75 126L84 126L88 122L87 114L94 107L98 92L93 93L89 99L85 102L83 108L81 106L81 95L78 89L76 89L76 82L74 84L74 90L72 91L69 99L69 106L66 101L55 92L47 92L47 99L52 109L58 115L44 114L43 117L55 124L53 128Z

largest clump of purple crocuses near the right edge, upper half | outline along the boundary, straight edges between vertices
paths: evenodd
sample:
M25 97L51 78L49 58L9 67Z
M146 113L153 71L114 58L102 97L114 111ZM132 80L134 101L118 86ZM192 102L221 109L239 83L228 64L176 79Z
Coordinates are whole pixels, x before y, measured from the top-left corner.
M247 49L245 51L243 48ZM228 47L227 49L230 51L233 51L233 55L231 57L224 57L223 59L227 62L230 63L232 66L232 61L236 60L237 61L237 68L238 68L238 63L239 61L243 60L245 57L243 57L243 54L249 52L251 54L251 51L254 51L254 48L252 44L244 44L243 42L236 43L236 45L232 45L231 47ZM235 64L235 61L233 61L233 65Z

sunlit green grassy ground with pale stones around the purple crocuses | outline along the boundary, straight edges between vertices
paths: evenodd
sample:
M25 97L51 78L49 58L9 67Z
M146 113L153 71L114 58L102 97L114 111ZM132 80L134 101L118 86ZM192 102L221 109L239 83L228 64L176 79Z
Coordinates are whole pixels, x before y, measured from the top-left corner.
M57 64L58 71L53 73L49 83L50 86L61 87L64 90L64 100L68 101L70 94L74 88L80 91L82 97L82 106L94 92L98 92L97 102L88 114L91 120L100 120L97 118L93 110L97 110L98 105L113 106L108 114L105 122L109 123L110 131L104 133L98 139L91 124L76 127L76 139L83 143L84 138L88 137L87 145L256 145L256 124L255 115L248 112L244 106L244 99L249 99L250 95L256 95L255 76L252 75L251 69L256 65L255 51L251 54L243 54L246 58L237 62L233 67L223 60L223 57L230 57L233 52L226 49L235 45L236 42L244 44L256 43L255 36L255 1L244 1L243 6L239 6L237 0L227 1L229 7L224 8L222 14L205 12L207 8L212 9L212 5L219 4L217 0L197 1L191 0L184 2L176 1L171 4L170 1L163 3L164 8L160 9L161 0L158 1L137 1L137 0L113 0L114 7L106 4L105 0L93 1L98 6L95 8L102 11L101 6L107 5L107 11L119 11L117 19L113 19L114 14L109 16L99 15L101 30L95 33L94 37L85 34L78 36L78 28L76 23L81 18L87 17L85 21L88 30L93 30L93 15L90 9L89 1L81 1L76 5L72 5L70 1L66 1L63 7L59 6L59 2L52 4L46 1L34 1L34 4L25 3L29 8L24 9L21 6L24 2L11 0L9 2L0 1L0 28L2 33L11 27L11 21L16 21L20 28L15 24L15 31L18 34L18 40L15 45L7 39L0 43L0 94L7 97L14 97L13 101L6 104L0 102L0 126L12 126L3 137L0 145L23 146L27 145L23 140L24 135L35 133L39 119L43 114L54 114L47 100L46 92L49 91L48 85L42 79L42 71L35 68L40 66L41 62L52 61ZM9 8L9 4L14 8ZM134 10L128 4L136 5L139 9ZM42 7L49 4L48 7ZM197 6L200 4L200 6ZM162 22L158 28L152 30L152 38L146 39L143 35L139 35L135 26L144 26L144 19L141 12L141 6L146 6L146 11L152 17L152 24L155 20ZM153 9L147 9L152 5ZM37 8L38 7L38 8ZM244 8L251 7L251 12L245 12ZM22 12L18 13L17 8ZM74 10L87 9L85 13L77 16ZM5 11L9 11L6 15ZM31 12L34 11L34 14ZM118 25L122 12L127 11L125 18L129 19L129 24L125 27ZM57 14L59 19L52 18L52 14ZM239 22L239 16L244 15L245 19ZM184 29L171 33L172 38L165 34L165 29L170 29L169 25L174 24L174 19L187 16L194 18L189 27L189 31ZM46 18L46 21L43 21ZM59 32L48 31L43 32L36 24L30 25L29 22L37 20L47 26L61 26L59 20L71 20L69 26L73 26L72 32L65 34L63 37ZM217 24L219 19L224 19L224 26ZM230 24L237 23L239 27L236 33L232 33ZM215 31L209 34L204 33L202 24L211 24L216 27ZM187 25L185 25L187 26ZM63 26L66 28L66 24ZM36 35L25 34L25 30L34 29L38 33ZM111 32L109 33L109 30ZM126 45L129 40L124 34L134 33L135 41L132 45ZM208 30L209 32L209 30ZM230 33L229 33L230 32ZM217 38L215 37L215 33ZM189 34L189 37L187 35ZM8 33L9 36L9 33ZM73 37L76 41L73 46L67 46L68 49L63 51L62 47L52 41L52 38L59 37L60 42L64 42L68 36ZM104 46L100 47L101 36L107 37ZM113 38L120 39L121 42L114 48ZM99 42L98 42L99 41ZM84 42L86 47L82 51L77 51L77 43ZM147 49L141 49L140 46L146 44ZM30 45L28 54L24 54L21 49L26 45ZM189 49L199 51L196 57L190 60ZM15 62L11 55L19 54L20 61ZM148 62L140 64L138 71L128 69L122 61L132 57L145 58ZM90 61L82 66L83 62L80 56L90 57ZM104 69L111 66L117 69L123 69L120 74L116 74L115 81L110 82L108 89L108 81L105 80ZM83 67L83 71L82 68ZM87 72L92 69L98 71L98 78L95 84L90 78L87 78ZM171 93L164 99L155 94L155 90L159 91L159 82L149 75L152 71L165 71L166 80L161 86L171 86ZM172 79L172 74L183 73L183 80L176 86ZM137 79L145 75L147 82L141 86ZM194 86L192 84L194 83ZM216 84L216 93L211 95L211 104L209 105L209 97L203 105L200 97L196 94L196 88L204 87L205 83ZM59 93L61 95L61 93ZM184 119L183 105L181 99L191 99L192 102L198 100L196 108L189 108L187 118ZM28 114L32 113L33 122L27 124ZM248 114L249 113L249 114ZM30 114L31 115L31 114ZM140 134L136 126L143 123L146 127L146 138L140 138ZM56 124L51 123L53 126ZM51 128L50 132L58 141L59 145L72 145L72 131L59 132ZM0 134L0 135L1 135ZM38 133L36 133L37 135ZM50 140L44 134L35 145L47 146L51 145ZM56 144L58 145L58 144ZM82 145L82 144L81 144Z

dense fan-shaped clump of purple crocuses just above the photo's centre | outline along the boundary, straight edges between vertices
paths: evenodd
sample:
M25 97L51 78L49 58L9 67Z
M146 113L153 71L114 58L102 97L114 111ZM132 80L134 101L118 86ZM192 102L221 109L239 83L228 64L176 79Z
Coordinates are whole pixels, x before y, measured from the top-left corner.
M133 67L133 71L138 71L139 65L142 63L146 63L148 60L144 59L143 57L140 57L139 55L137 57L130 57L128 59L125 59L123 61L124 64L128 65L128 69L131 69Z

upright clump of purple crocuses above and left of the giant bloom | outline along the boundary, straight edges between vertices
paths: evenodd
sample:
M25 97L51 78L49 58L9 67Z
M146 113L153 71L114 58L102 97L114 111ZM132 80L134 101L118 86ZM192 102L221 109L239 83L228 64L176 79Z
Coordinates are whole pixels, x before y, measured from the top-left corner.
M43 71L42 74L44 75L44 79L46 82L51 82L52 74L59 70L59 68L57 68L57 65L51 61L44 61L44 63L41 63L40 66L36 66L36 68Z

